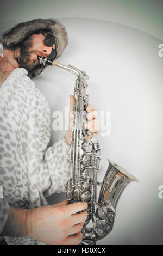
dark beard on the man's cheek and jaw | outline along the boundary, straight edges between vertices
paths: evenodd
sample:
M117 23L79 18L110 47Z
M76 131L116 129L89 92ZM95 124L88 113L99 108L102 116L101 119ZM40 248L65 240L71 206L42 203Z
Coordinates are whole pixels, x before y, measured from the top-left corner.
M37 60L30 60L30 47L32 47L31 38L24 40L20 46L20 56L18 57L18 63L21 68L26 69L28 72L33 70L39 63Z

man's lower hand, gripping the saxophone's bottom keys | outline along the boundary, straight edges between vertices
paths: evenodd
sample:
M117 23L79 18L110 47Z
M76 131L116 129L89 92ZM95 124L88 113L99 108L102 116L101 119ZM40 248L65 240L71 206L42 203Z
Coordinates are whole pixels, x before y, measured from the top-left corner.
M79 245L87 218L86 203L59 204L27 210L28 236L47 245ZM76 234L76 236L70 236Z

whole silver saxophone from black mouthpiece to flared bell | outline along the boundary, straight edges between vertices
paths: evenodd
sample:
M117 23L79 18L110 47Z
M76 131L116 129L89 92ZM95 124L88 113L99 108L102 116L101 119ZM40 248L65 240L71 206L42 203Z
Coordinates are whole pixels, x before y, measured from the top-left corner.
M101 149L95 137L86 138L90 133L84 128L86 107L89 105L89 95L86 94L89 76L71 65L52 62L45 57L38 58L40 64L55 65L77 76L74 86L74 119L71 127L69 159L72 163L72 178L66 184L66 196L68 203L86 202L88 204L81 245L96 245L96 241L103 239L113 228L116 205L122 191L130 182L139 180L114 161L108 160L109 167L103 182L97 182L97 172L101 167ZM98 202L97 185L101 186Z

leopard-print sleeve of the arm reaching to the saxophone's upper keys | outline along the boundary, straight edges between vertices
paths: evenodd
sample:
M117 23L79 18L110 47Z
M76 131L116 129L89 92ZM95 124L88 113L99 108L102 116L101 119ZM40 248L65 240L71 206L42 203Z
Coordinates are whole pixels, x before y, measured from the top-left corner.
M48 103L45 108L45 122L43 126L44 136L49 136L51 120ZM44 150L41 156L39 170L39 184L44 196L51 196L54 192L65 192L65 184L72 177L72 164L68 162L70 157L70 145L65 137L61 137L57 143Z

